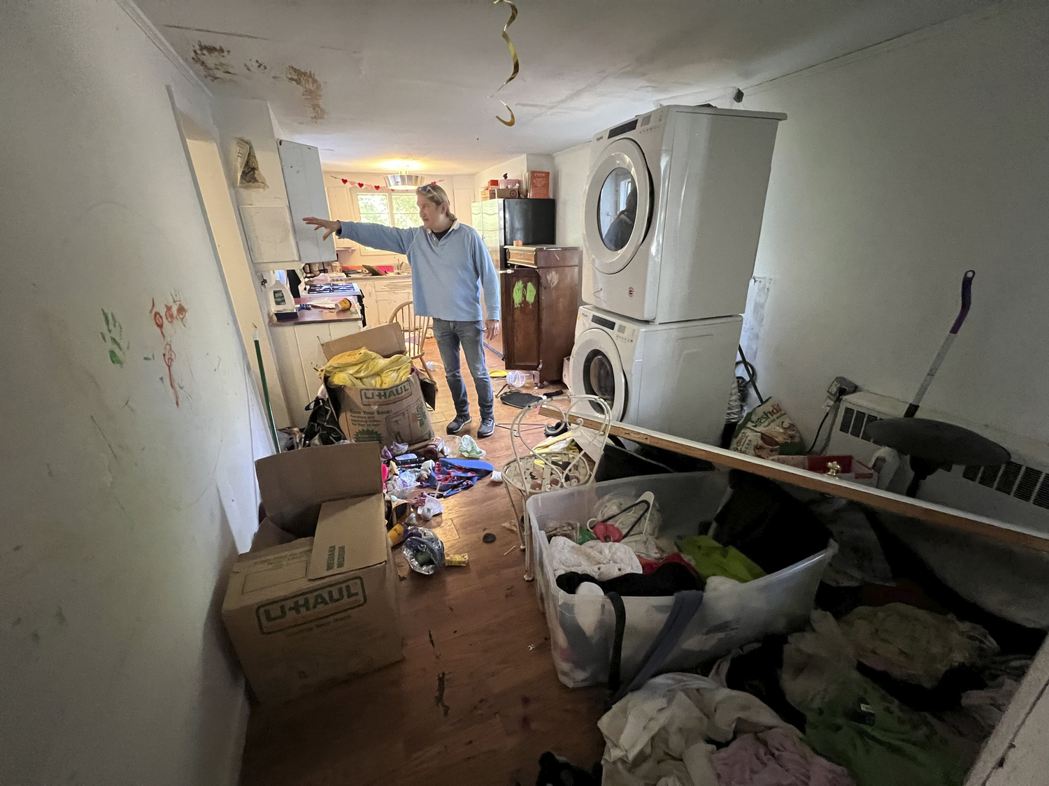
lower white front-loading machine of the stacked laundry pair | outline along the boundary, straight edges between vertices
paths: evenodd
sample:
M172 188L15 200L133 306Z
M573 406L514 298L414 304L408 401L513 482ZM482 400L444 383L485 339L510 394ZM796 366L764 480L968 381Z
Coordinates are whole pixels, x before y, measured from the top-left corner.
M742 326L738 314L654 325L583 306L569 388L603 398L613 420L718 444Z

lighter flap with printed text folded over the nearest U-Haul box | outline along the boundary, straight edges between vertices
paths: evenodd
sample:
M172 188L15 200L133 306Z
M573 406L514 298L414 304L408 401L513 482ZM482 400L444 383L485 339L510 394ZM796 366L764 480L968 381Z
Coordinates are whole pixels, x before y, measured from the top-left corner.
M324 578L385 562L385 521L381 494L325 502L317 519L306 578Z

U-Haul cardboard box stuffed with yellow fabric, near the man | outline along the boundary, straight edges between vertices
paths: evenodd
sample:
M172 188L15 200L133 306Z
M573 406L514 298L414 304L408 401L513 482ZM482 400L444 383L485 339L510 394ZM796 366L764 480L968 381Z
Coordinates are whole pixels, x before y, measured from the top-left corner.
M330 361L337 354L361 347L383 357L404 354L404 333L397 323L383 325L328 342L321 349ZM328 390L335 394L339 425L346 439L409 445L433 439L430 413L414 374L389 388L331 387Z

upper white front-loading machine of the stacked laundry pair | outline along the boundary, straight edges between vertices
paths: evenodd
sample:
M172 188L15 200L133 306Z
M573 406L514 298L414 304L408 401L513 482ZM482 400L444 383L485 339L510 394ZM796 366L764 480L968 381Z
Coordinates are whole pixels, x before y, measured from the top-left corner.
M743 313L786 118L667 106L597 134L583 301L646 322Z

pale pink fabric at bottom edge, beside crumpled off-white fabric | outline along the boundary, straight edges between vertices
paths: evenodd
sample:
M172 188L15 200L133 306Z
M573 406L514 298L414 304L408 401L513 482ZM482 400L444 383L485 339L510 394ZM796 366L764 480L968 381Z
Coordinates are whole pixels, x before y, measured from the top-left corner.
M710 759L719 786L855 786L844 767L782 728L740 735Z

